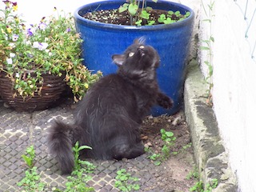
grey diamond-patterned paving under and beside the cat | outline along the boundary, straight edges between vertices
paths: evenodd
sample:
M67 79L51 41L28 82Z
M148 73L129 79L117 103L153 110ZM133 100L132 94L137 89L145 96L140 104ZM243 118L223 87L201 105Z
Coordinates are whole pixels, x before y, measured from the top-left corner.
M47 183L47 189L54 186L61 190L65 188L66 175L61 174L56 160L47 151L46 134L53 117L71 122L72 111L69 105L62 104L54 109L33 113L16 112L4 108L0 102L0 192L21 190L17 182L24 177L27 169L21 155L31 145L34 145L36 152L35 166L38 167L42 182ZM159 170L155 169L146 155L127 161L90 162L94 163L96 169L89 174L92 179L87 185L93 186L96 191L118 191L114 188L114 182L116 172L121 168L128 170L133 177L140 178L138 184L145 185L142 189L158 183L154 173Z

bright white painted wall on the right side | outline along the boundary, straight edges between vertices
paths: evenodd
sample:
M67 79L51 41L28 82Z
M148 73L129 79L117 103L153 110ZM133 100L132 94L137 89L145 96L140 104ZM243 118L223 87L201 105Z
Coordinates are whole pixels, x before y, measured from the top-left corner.
M210 1L203 2L207 4ZM245 34L256 2L248 1L246 21L243 18L246 0L214 2L214 112L230 154L231 167L238 176L239 190L253 192L256 191L256 62L251 56L256 40L256 15L248 38ZM209 28L206 23L201 24L201 37L206 38ZM202 61L206 57L205 54L199 55ZM206 71L206 67L202 66L202 69Z

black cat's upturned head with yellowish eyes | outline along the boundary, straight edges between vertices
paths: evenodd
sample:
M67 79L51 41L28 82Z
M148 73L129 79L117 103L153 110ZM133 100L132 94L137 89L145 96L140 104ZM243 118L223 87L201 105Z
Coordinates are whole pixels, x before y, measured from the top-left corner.
M128 78L154 80L160 58L152 46L146 46L144 38L139 38L123 54L114 54L113 62L118 66L118 74Z

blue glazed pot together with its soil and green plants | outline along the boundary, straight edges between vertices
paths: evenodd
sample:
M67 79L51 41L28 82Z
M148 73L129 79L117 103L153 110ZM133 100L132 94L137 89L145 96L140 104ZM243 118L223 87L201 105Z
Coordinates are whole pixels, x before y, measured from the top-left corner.
M101 70L103 75L117 70L111 60L113 54L121 54L136 38L146 38L146 44L158 50L161 58L159 86L174 100L170 110L155 106L151 114L174 114L180 110L193 10L169 1L109 0L79 7L74 18L83 40L84 64L89 70Z

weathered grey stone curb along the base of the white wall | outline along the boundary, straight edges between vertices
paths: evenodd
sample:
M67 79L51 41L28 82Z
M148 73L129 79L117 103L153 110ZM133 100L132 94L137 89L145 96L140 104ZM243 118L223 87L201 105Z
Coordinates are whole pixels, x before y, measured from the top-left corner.
M218 186L213 192L235 192L237 178L230 168L214 111L203 97L206 90L198 63L192 60L186 74L184 105L200 179L206 184L217 178Z

